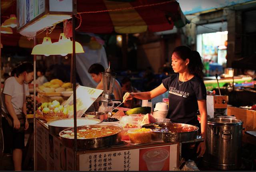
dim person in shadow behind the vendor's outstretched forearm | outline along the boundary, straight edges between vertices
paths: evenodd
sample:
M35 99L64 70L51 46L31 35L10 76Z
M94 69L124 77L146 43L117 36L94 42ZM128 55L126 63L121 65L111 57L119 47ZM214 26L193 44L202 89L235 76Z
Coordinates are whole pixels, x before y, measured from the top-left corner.
M128 77L124 77L122 79L122 94L124 95L126 92L133 92L133 93L139 93L135 87L132 87L132 81ZM141 100L140 99L132 99L128 100L124 103L124 107L127 108L135 108L135 107L140 107L141 106Z

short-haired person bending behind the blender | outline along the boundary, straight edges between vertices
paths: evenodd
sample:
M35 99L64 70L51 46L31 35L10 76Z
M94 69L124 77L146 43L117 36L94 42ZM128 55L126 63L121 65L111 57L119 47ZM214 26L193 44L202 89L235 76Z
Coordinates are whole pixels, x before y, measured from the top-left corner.
M96 89L102 89L103 90L103 82L102 82L102 72L104 72L105 69L101 64L94 63L91 65L88 69L88 73L90 73L92 79L98 83ZM115 80L115 86L114 86L114 96L116 100L122 101L122 88L120 86L120 83Z

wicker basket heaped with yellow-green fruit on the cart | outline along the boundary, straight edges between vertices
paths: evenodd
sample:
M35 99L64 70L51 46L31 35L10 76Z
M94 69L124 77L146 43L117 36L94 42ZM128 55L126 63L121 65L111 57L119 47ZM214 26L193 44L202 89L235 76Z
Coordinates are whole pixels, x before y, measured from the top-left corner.
M68 109L63 105L60 105L60 102L54 100L52 102L42 103L36 111L38 119L44 121L52 121L55 119L68 118Z

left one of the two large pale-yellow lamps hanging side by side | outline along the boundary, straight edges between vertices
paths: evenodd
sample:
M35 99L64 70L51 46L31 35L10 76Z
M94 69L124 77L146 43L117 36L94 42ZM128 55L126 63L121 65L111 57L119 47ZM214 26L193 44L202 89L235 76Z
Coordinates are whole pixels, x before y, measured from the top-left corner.
M38 44L38 45L34 46L31 54L49 56L49 55L54 55L55 54L54 51L55 50L54 50L54 46L52 46L51 38L44 37L42 44Z

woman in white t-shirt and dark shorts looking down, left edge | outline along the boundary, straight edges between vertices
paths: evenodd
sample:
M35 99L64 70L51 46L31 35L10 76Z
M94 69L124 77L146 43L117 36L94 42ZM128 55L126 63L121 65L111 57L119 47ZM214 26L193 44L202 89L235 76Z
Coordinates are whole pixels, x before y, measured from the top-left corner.
M26 95L29 95L28 82L33 77L33 65L28 62L21 63L14 68L14 76L9 77L4 82L2 91L2 133L3 133L3 152L12 153L14 170L22 170L22 149L24 148L24 130L28 129L28 121L24 123L24 130L18 131L21 123L17 117L24 113L26 116ZM4 117L9 114L13 119L11 127ZM22 127L23 128L23 127Z

